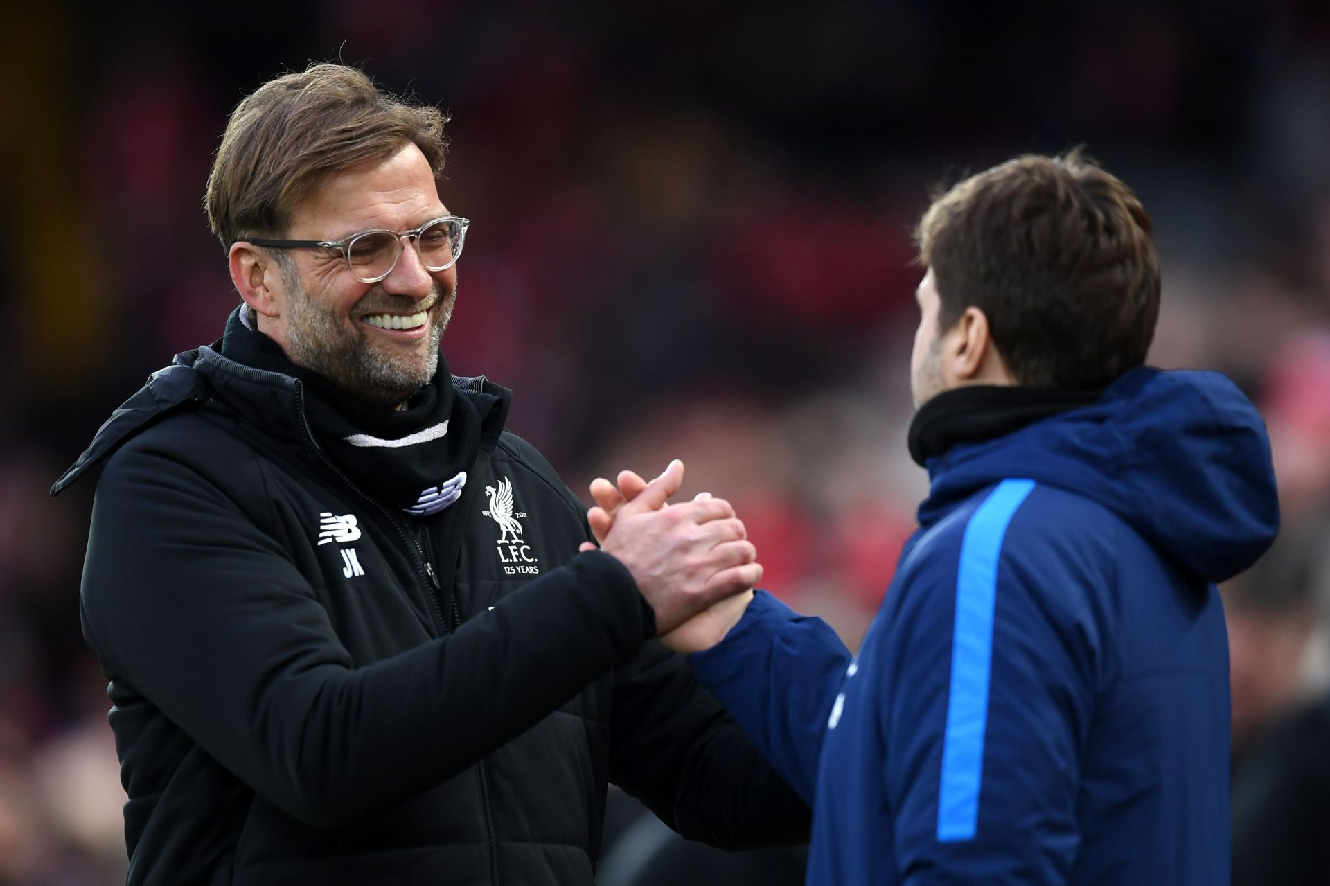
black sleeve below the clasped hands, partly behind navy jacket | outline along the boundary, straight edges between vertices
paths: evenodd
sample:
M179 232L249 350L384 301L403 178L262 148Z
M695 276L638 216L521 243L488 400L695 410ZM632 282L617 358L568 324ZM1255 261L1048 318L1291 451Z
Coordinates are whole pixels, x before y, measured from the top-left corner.
M616 672L609 780L689 839L726 850L809 842L807 804L686 660L654 641Z

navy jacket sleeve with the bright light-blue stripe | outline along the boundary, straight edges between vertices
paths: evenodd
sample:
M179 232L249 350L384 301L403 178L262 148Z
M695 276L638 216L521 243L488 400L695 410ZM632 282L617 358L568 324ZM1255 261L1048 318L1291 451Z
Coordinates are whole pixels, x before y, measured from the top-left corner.
M1080 842L1099 647L1081 589L1099 580L1095 557L1025 512L1007 532L1000 494L888 597L876 726L910 886L1068 883Z

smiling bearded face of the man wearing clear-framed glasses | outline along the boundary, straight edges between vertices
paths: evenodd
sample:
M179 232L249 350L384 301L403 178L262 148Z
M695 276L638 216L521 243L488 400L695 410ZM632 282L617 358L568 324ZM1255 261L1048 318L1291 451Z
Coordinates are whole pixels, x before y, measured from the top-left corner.
M334 174L291 216L289 239L338 241L362 230L410 230L447 216L420 149ZM407 242L392 273L362 283L339 250L290 250L259 330L287 358L378 406L398 406L434 378L456 301L456 265L426 270Z

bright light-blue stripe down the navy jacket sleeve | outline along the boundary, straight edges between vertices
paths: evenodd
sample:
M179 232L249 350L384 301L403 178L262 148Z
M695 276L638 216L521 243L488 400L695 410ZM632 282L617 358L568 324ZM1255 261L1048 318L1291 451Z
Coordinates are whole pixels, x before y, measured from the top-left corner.
M938 842L974 839L983 781L992 665L998 559L1007 524L1033 480L1003 480L970 516L960 541L956 623L951 639L951 686L938 790Z

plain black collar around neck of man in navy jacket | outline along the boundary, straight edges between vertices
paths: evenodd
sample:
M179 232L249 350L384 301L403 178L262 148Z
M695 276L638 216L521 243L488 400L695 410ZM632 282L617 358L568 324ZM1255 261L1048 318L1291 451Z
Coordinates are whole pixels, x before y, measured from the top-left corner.
M1089 406L1104 388L970 384L938 394L910 422L910 458L918 464L958 443L984 443L1059 412Z

